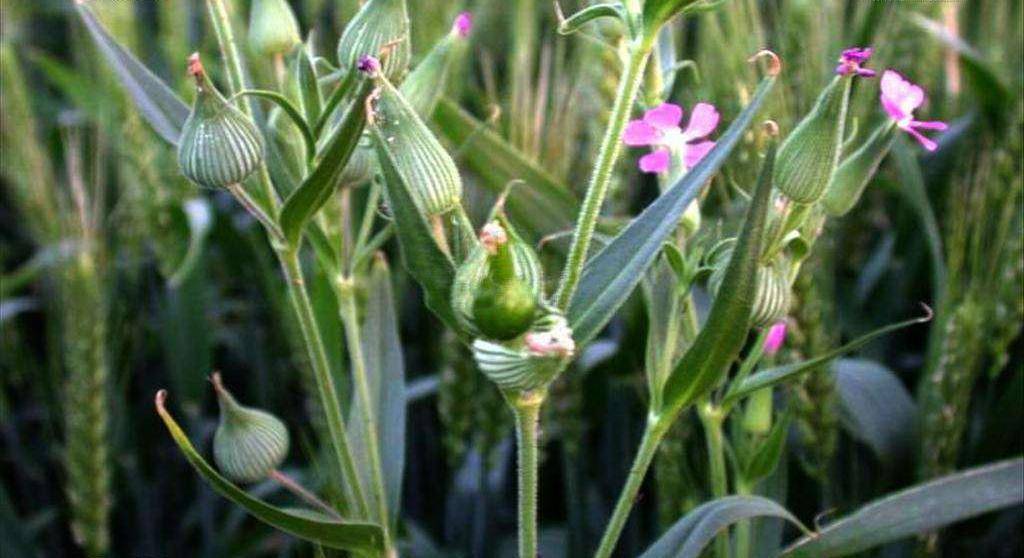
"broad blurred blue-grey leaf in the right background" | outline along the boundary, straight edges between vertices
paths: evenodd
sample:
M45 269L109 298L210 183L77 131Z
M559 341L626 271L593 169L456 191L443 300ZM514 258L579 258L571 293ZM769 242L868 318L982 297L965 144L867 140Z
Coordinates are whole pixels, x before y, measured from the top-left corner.
M918 410L899 378L873 360L843 358L833 370L846 429L887 465L908 457Z

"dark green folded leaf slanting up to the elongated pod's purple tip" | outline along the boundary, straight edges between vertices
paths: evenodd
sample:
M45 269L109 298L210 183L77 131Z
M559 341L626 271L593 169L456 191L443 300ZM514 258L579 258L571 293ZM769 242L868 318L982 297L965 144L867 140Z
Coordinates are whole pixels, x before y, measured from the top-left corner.
M364 101L370 94L371 87L372 82L364 80L355 100L324 146L313 172L285 202L285 207L281 210L281 229L290 245L298 245L306 222L334 194L338 177L355 151L367 123Z

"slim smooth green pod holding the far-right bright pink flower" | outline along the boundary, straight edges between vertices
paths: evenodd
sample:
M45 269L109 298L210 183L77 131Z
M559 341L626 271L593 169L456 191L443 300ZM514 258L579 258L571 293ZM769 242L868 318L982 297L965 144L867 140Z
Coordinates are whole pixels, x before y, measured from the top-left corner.
M847 157L836 169L828 190L821 199L821 205L828 215L833 217L846 215L857 205L867 183L879 170L882 160L889 154L893 138L896 137L895 129L893 122L887 120L871 133L863 145Z

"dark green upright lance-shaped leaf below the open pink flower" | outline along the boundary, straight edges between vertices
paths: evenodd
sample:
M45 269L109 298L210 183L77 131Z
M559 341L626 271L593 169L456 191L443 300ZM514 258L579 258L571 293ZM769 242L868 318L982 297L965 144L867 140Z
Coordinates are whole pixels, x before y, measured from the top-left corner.
M665 383L662 398L669 418L712 389L746 340L757 297L758 260L771 200L774 163L772 141L708 320Z

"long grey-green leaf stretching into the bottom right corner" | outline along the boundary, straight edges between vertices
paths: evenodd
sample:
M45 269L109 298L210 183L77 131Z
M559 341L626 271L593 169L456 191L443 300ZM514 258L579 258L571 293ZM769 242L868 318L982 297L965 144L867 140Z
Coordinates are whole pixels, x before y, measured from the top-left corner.
M781 556L849 556L1021 502L1024 502L1024 459L1004 461L877 500L801 539Z

